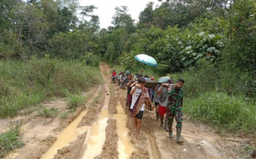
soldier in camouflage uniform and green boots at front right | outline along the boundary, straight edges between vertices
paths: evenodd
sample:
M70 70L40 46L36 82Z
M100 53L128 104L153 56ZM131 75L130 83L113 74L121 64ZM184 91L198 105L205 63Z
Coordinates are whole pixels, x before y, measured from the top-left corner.
M182 86L184 84L183 79L178 79L177 83L174 86L169 86L167 91L168 104L167 104L167 117L168 117L168 128L169 128L169 137L174 138L172 134L172 124L173 117L175 116L177 125L176 125L176 139L178 143L183 143L181 140L181 127L182 127L182 102L183 102L183 90Z

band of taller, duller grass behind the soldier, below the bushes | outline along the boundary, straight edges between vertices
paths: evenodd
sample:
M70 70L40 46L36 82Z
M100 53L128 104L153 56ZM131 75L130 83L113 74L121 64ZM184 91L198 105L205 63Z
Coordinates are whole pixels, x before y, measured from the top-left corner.
M225 92L228 95L246 95L254 98L256 93L256 81L251 73L231 68L215 68L211 65L199 69L191 68L181 73L169 74L177 80L185 81L185 95L195 97L204 92Z

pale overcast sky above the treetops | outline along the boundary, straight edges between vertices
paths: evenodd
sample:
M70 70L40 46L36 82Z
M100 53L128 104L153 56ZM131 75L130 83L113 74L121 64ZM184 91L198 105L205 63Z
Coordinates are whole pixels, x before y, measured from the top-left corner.
M127 5L128 13L137 22L140 12L143 11L148 2L154 2L154 7L159 4L158 0L80 0L80 5L94 5L98 7L93 14L99 16L100 28L107 29L111 25L116 6Z

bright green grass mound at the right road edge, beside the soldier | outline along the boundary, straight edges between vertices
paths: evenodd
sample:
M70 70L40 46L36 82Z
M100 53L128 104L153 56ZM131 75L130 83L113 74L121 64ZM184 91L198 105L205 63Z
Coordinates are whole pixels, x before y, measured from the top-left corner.
M220 132L256 135L256 106L246 103L243 96L208 92L197 98L184 98L183 111L191 121Z

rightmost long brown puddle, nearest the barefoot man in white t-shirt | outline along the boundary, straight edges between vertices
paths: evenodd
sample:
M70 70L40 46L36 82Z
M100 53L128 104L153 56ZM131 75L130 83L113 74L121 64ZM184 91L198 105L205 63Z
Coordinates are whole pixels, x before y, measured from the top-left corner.
M128 136L129 129L126 127L127 115L121 106L121 103L117 103L117 114L113 114L113 118L116 119L118 130L118 152L119 158L128 159L131 157L132 152L135 150L133 144L130 142L131 137Z

